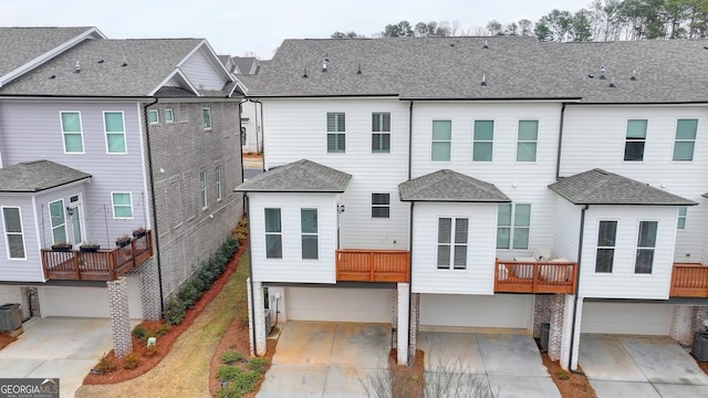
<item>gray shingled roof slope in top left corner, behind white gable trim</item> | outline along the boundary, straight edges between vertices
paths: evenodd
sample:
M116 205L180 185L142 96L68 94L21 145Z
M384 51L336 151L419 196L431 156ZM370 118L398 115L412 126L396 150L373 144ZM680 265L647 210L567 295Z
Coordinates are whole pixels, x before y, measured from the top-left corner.
M91 30L81 28L0 28L0 76Z

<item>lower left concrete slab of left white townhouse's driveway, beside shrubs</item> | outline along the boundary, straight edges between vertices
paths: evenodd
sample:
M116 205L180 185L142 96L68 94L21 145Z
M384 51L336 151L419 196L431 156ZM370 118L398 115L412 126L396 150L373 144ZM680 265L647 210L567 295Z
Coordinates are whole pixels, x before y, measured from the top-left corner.
M275 365L266 373L258 398L322 397L326 366Z

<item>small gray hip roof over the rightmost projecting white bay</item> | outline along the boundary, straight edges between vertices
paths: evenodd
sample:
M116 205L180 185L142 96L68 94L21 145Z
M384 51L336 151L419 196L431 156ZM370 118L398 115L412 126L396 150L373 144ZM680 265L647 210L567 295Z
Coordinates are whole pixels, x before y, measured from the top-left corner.
M627 177L593 169L549 186L574 205L695 206L697 202Z

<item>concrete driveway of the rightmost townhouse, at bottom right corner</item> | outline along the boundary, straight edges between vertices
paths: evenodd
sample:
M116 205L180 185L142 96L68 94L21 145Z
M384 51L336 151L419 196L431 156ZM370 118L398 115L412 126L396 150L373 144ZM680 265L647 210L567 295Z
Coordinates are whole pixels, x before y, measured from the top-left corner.
M708 397L708 376L669 337L583 334L579 364L598 398Z

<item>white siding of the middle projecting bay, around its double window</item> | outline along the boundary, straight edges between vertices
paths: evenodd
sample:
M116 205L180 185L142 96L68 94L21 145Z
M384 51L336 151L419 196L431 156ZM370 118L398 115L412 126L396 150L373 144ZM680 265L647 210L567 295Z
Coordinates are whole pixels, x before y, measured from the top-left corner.
M438 218L469 219L467 270L438 270ZM429 203L414 207L414 293L493 294L497 205Z

